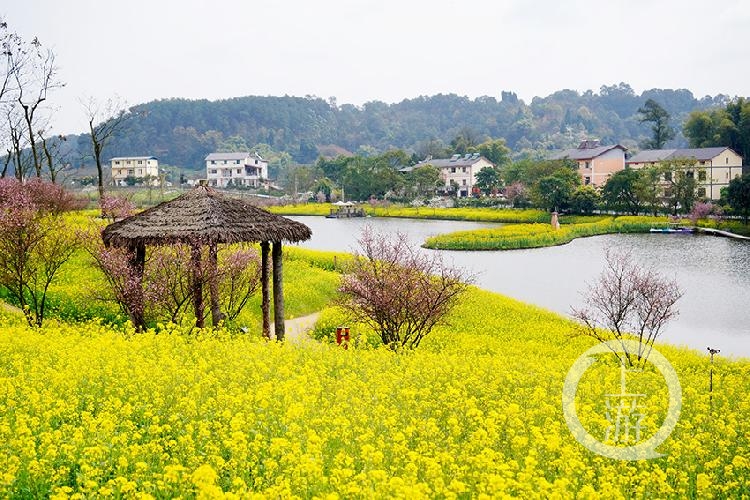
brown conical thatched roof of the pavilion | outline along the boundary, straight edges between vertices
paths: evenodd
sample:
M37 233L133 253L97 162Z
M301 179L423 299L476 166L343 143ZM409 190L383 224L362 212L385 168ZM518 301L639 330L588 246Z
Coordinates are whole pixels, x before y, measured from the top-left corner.
M110 224L102 233L104 242L113 246L295 242L310 236L312 231L302 223L205 186Z

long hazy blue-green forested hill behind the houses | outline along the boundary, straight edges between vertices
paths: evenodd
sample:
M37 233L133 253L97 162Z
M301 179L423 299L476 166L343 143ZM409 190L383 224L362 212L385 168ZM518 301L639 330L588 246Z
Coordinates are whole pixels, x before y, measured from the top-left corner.
M689 90L653 89L637 95L627 84L598 93L560 90L531 103L512 92L499 98L469 99L455 94L417 97L395 104L337 105L317 97L237 97L219 101L165 99L134 106L127 133L108 146L107 157L155 155L161 163L200 168L205 155L264 143L300 163L330 151L374 152L402 148L425 155L459 133L481 142L505 138L514 152L557 149L595 137L635 147L649 135L638 108L653 99L672 117L677 137L695 109L722 106L729 97L696 99ZM79 149L89 147L78 138Z

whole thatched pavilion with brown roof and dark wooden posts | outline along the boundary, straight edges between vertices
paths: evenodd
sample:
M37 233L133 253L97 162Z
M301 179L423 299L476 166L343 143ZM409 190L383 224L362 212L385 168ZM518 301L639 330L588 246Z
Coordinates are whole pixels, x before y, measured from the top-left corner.
M274 326L277 339L284 338L284 292L282 283L282 242L304 241L312 236L309 227L246 201L223 195L206 186L166 201L139 214L110 224L102 238L107 246L125 247L131 253L131 265L143 276L147 245L184 244L191 248L193 268L201 264L201 248L208 246L209 295L211 319L221 320L217 283L217 245L221 243L260 242L263 335L270 337L269 267L273 260ZM271 250L271 244L273 249ZM200 280L196 279L197 283ZM196 325L203 327L203 287L193 290ZM143 317L136 319L137 328Z

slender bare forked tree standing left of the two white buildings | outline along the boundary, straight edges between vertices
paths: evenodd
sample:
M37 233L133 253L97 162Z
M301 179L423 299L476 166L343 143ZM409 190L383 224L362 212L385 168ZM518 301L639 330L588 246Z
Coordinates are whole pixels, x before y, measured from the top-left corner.
M125 129L132 114L125 109L125 104L119 99L109 99L100 104L93 98L82 103L89 123L91 147L96 163L98 177L99 198L104 197L104 168L102 154L109 141Z

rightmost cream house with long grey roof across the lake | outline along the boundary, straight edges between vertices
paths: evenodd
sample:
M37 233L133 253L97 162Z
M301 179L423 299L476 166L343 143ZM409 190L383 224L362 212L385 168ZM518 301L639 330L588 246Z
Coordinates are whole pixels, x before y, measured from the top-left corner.
M667 161L687 160L687 175L696 180L699 198L718 200L721 188L742 175L742 157L728 147L692 149L647 149L627 161L628 168L660 166Z

